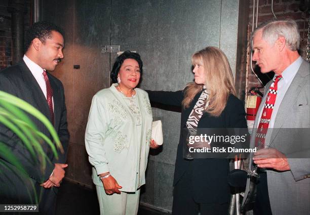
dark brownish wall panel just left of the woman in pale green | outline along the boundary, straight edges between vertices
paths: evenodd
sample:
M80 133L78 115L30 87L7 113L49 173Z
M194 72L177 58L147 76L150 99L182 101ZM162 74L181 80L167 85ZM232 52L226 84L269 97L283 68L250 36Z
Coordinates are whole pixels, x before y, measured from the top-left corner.
M74 33L74 135L84 145L84 133L94 94L109 85L109 56L101 47L109 43L110 1L75 1ZM82 96L83 95L83 96Z

